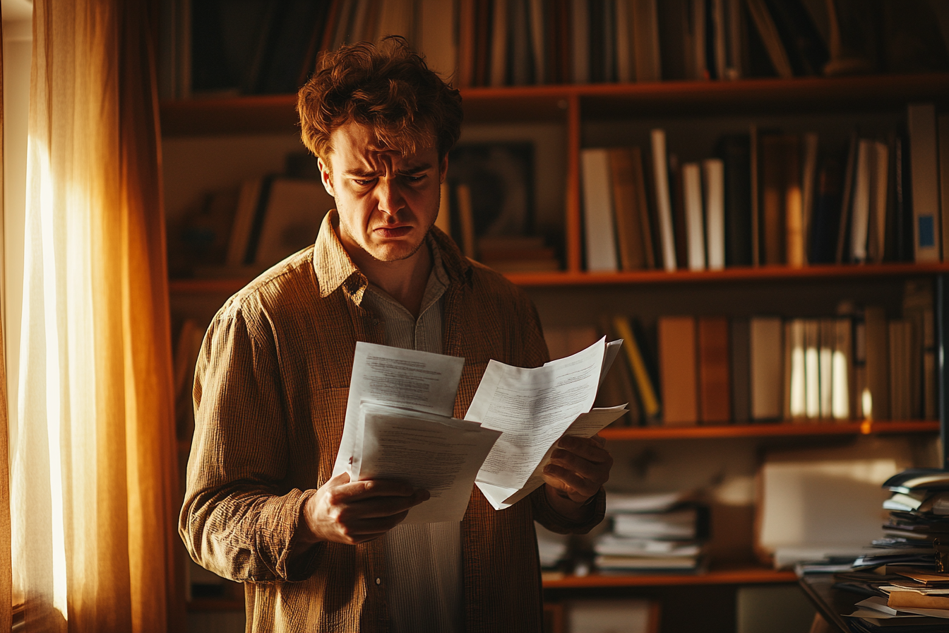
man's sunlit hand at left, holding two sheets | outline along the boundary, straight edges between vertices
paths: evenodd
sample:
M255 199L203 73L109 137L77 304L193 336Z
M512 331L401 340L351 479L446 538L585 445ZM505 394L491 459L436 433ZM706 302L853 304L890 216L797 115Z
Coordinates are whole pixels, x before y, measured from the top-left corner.
M349 475L341 473L307 499L296 541L303 545L371 541L399 525L412 506L430 496L428 491L414 490L401 481L350 482Z

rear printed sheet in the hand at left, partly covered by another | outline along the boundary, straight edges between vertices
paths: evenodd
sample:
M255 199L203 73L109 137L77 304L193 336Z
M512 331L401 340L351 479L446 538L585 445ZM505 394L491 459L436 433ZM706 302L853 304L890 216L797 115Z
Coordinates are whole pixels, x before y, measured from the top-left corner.
M333 476L359 471L354 453L363 445L359 405L363 400L451 418L463 358L358 342L346 400L346 418ZM353 463L350 464L350 457Z

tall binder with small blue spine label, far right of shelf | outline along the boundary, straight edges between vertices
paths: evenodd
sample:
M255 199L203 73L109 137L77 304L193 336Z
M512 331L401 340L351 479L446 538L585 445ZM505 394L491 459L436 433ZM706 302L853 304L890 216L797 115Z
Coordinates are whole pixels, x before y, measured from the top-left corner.
M940 260L939 173L936 156L936 106L912 103L907 108L912 177L913 243L917 262Z

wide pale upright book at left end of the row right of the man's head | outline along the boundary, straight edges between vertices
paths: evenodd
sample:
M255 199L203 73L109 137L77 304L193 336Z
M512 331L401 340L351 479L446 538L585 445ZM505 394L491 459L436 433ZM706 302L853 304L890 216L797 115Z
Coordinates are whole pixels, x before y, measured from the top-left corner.
M585 149L580 153L583 182L586 270L618 270L616 236L613 232L613 197L609 153Z

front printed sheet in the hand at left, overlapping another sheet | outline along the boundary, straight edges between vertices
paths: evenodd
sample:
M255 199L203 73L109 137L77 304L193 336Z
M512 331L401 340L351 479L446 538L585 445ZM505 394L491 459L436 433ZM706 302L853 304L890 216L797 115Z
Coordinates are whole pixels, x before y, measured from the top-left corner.
M400 479L432 494L402 521L460 521L472 495L474 475L500 431L477 422L417 413L365 402L360 470L355 478Z

